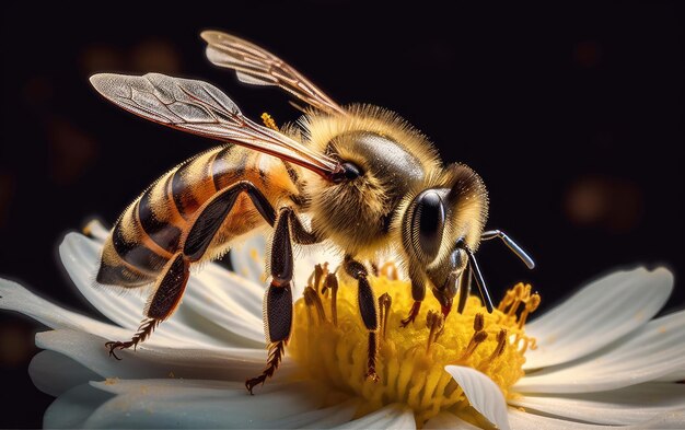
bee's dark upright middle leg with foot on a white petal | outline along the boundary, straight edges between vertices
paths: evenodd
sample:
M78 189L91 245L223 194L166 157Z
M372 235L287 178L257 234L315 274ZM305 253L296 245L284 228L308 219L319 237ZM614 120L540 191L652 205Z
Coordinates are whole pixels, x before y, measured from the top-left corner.
M258 384L264 384L271 377L286 350L292 326L292 272L294 267L292 243L290 237L290 221L294 213L290 208L280 210L274 230L271 243L270 268L271 283L266 291L264 316L266 318L266 335L269 341L269 358L260 375L245 381L245 387L252 391ZM297 229L292 229L293 231Z

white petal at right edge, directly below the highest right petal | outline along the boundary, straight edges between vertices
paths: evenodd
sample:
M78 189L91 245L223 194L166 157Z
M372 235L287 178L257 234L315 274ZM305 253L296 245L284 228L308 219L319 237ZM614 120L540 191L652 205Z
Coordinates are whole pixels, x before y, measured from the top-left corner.
M526 375L522 393L585 393L653 381L685 367L685 311L653 319L627 338L558 368Z

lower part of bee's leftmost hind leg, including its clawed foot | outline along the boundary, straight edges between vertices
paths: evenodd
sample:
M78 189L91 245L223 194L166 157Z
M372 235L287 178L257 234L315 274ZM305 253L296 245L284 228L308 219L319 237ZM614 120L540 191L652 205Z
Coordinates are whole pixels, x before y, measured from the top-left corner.
M162 275L154 286L154 293L148 301L146 318L130 340L108 341L105 347L109 349L109 357L120 360L115 350L127 349L138 346L148 339L152 332L174 313L181 302L181 297L186 289L190 269L190 260L183 254L176 253L162 269Z

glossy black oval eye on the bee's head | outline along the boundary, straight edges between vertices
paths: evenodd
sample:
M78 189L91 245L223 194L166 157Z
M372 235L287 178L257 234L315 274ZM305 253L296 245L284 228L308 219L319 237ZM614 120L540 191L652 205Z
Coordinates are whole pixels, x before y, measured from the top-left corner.
M416 196L411 214L411 242L415 251L429 262L440 251L444 219L444 205L436 190L427 189Z

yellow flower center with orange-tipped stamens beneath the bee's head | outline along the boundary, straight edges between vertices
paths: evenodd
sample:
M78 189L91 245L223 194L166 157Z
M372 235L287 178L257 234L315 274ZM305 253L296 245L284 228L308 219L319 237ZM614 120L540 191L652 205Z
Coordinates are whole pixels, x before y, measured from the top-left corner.
M295 303L289 346L302 376L323 382L336 393L361 397L358 416L402 403L414 410L418 426L445 409L478 422L444 367L476 369L495 381L504 397L511 396L510 387L524 373L525 350L535 347L534 339L524 333L524 324L539 304L539 295L519 283L491 314L478 298L471 297L463 313L453 311L446 319L427 299L416 321L403 328L400 321L414 303L411 288L408 281L392 278L370 278L379 298L381 324L378 382L364 377L368 330L359 314L356 282L344 278L339 288L332 289L311 278L304 298Z

